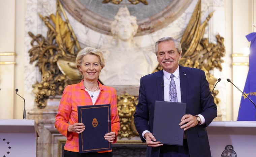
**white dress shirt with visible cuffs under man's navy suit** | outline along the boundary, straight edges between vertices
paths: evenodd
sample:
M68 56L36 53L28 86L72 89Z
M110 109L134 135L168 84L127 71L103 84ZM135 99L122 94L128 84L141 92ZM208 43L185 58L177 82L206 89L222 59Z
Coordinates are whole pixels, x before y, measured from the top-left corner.
M171 73L168 73L167 71L163 70L164 72L164 101L170 101L170 82L171 82ZM176 85L176 91L177 91L177 98L178 102L181 102L181 83L180 83L180 67L172 73L175 77L173 77L173 80ZM205 119L201 114L197 114L201 119L201 124L205 123ZM150 133L150 131L145 130L142 133L142 137L144 138L145 133ZM145 139L145 138L144 138ZM146 139L145 139L146 140Z

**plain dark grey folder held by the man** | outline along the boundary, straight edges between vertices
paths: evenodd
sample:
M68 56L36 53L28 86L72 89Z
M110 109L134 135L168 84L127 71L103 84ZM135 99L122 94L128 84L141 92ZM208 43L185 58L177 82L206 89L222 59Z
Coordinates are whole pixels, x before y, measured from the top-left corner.
M167 145L182 146L184 129L181 129L179 124L185 112L186 103L155 101L152 134L156 141Z

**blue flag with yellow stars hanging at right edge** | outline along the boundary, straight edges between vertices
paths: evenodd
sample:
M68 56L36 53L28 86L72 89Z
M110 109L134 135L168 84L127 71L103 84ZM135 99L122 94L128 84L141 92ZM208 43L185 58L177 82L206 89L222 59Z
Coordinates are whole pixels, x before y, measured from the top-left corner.
M251 42L249 55L249 71L245 82L244 94L256 102L256 32L246 35ZM242 95L237 121L256 121L256 108L253 103Z

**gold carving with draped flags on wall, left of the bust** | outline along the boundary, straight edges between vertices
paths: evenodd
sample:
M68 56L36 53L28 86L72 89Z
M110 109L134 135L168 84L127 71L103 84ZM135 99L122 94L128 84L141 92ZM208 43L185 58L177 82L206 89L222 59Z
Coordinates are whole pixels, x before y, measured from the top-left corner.
M61 15L66 21L62 20ZM59 0L57 0L56 16L51 14L49 17L43 17L39 14L39 17L48 27L47 36L45 38L41 34L34 35L29 32L32 38L29 56L30 63L36 62L35 66L41 72L41 82L33 85L33 92L38 108L44 108L49 97L61 95L68 84L76 82L62 74L58 62L60 60L74 62L75 52L81 48Z

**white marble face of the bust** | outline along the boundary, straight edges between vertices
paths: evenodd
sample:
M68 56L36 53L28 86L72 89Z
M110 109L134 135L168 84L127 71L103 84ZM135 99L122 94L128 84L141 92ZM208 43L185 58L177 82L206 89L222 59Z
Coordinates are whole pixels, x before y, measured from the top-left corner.
M127 41L133 37L134 28L129 20L122 20L118 24L118 38Z

